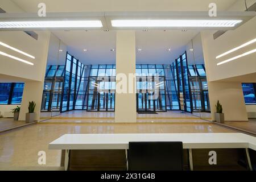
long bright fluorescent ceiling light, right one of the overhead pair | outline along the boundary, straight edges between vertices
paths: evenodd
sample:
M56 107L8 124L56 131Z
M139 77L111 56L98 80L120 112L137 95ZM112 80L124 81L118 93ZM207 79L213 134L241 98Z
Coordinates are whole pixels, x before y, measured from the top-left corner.
M113 27L234 27L242 20L111 20Z

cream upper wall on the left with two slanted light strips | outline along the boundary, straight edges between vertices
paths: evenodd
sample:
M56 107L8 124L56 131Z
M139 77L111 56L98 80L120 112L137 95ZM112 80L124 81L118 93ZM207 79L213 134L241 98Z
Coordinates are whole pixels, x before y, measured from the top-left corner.
M40 31L38 40L31 38L23 31L1 31L0 41L20 51L26 52L35 59L22 55L16 51L0 46L0 51L20 59L30 61L34 65L22 63L10 57L0 55L0 73L7 76L15 76L28 80L43 81L46 72L46 61L49 46L49 32Z

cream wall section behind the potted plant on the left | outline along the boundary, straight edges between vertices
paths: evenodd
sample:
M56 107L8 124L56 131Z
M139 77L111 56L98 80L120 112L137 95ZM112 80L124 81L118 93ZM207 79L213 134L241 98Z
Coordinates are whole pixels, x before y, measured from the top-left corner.
M25 82L22 104L20 106L19 121L26 120L26 113L28 113L28 102L34 101L36 104L35 107L35 121L40 121L40 110L42 104L42 95L43 95L43 81L28 81Z

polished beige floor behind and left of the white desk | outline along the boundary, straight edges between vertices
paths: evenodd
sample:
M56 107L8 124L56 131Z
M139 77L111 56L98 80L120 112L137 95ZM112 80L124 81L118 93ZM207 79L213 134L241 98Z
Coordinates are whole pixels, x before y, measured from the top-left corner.
M48 150L48 143L67 133L234 133L234 131L212 123L50 125L42 122L0 134L0 170L49 169L46 167L59 169L61 151ZM38 164L39 151L46 151L47 158L44 166Z

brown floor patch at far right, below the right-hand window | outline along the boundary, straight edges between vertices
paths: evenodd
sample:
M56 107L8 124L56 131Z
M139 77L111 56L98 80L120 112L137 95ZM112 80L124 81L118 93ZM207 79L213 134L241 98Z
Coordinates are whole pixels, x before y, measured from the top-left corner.
M256 135L256 118L254 119L251 118L249 119L249 121L225 121L224 125L249 131Z

